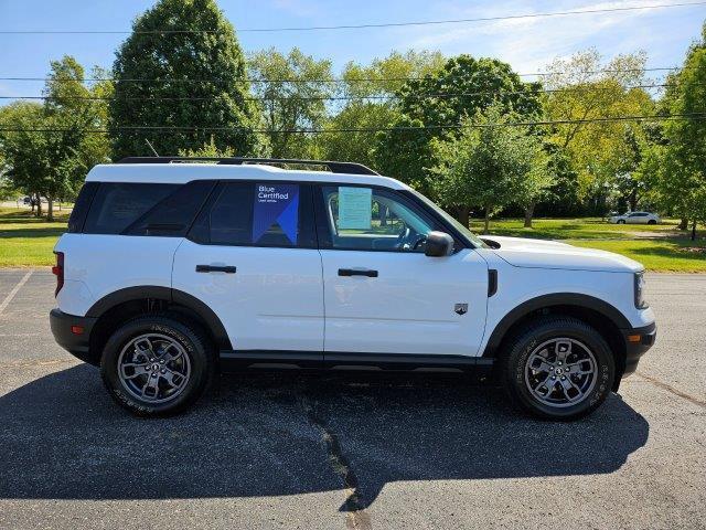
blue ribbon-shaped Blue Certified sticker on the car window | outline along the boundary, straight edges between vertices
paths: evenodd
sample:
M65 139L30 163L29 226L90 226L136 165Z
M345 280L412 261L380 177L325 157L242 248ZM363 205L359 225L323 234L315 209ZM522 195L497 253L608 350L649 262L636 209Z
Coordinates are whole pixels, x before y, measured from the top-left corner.
M292 245L297 244L299 222L298 184L256 184L253 208L253 243L278 224Z

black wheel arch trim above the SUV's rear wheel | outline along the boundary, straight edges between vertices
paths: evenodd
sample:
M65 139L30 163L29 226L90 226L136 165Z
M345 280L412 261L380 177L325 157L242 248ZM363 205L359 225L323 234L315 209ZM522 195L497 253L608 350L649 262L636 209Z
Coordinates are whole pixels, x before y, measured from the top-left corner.
M86 317L97 318L90 332L90 351L94 357L108 336L122 322L154 311L171 311L199 324L210 335L217 349L232 349L231 339L218 316L199 298L179 289L163 286L133 286L116 290L96 301Z

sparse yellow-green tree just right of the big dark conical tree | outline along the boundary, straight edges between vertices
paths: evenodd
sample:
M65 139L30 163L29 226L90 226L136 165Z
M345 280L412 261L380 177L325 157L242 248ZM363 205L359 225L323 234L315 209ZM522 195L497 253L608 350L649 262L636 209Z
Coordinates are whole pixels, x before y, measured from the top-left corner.
M335 92L331 61L317 61L297 47L288 55L272 47L250 55L248 70L261 99L271 156L317 158L315 139L301 130L318 129L325 123L327 98ZM267 80L270 82L263 82Z

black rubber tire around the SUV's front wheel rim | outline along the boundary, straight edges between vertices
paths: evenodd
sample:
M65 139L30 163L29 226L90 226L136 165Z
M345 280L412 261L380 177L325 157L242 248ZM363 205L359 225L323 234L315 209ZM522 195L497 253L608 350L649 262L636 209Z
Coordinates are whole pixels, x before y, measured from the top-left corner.
M534 374L536 373L541 373L536 377L543 379L544 372L528 371L527 362L533 352L544 348L547 343L553 344L553 340L561 338L569 339L571 348L576 348L575 354L577 357L573 359L592 354L595 363L591 364L588 361L589 364L582 364L582 367L595 367L595 382L591 386L588 377L582 379L580 374L568 375L571 381L577 381L579 384L580 381L585 381L585 384L587 384L586 392L581 394L580 401L576 395L574 396L574 399L577 399L574 404L570 400L566 400L567 391L561 389L564 383L549 381L547 385L537 385L536 389L546 389L547 396L558 395L556 398L557 401L561 399L560 394L564 394L565 404L547 404L543 402L542 396L537 396L530 388L532 385L531 378L535 377ZM553 347L548 346L548 348L552 349ZM534 358L536 363L536 356ZM554 362L556 362L556 359ZM564 370L566 370L568 359L569 357L566 358ZM552 372L546 371L547 378L550 377L550 373L558 373L560 369L560 367L556 368L555 364L552 364L552 367L549 369ZM557 370L557 372L554 372L554 370ZM586 322L570 317L549 316L533 320L514 335L504 350L504 356L501 358L501 381L512 403L522 411L546 420L569 421L590 414L600 406L610 393L614 377L616 363L606 340ZM556 380L556 377L552 379ZM566 374L564 379L566 379ZM558 384L558 386L553 386L554 390L549 391L548 384ZM567 381L566 384L569 384L569 382ZM576 392L573 389L569 389L569 391Z

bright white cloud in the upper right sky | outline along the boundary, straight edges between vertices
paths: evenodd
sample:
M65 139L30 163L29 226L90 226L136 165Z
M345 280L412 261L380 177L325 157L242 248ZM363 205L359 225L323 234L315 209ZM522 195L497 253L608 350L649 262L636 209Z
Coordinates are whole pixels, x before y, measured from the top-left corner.
M579 4L561 1L537 7L536 2L530 4L511 0L469 8L468 4L447 1L435 7L435 11L443 13L440 19L463 19L640 6L645 3L637 0ZM657 34L654 28L645 31L642 23L645 19L657 20L664 11L645 9L418 26L411 32L399 32L397 45L402 49L438 49L447 54L494 56L510 63L517 72L537 72L557 56L570 55L589 46L612 56L654 46L657 40L674 39L672 32Z

